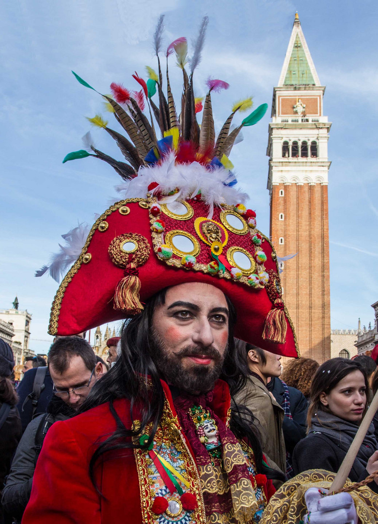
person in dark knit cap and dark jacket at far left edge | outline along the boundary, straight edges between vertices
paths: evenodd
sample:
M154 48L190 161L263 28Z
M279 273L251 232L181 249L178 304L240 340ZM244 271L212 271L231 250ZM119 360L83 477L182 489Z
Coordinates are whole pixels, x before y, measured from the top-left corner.
M0 495L4 479L9 473L10 461L21 438L21 422L16 409L17 394L8 378L14 365L12 348L0 339ZM3 508L0 504L0 524L3 522Z

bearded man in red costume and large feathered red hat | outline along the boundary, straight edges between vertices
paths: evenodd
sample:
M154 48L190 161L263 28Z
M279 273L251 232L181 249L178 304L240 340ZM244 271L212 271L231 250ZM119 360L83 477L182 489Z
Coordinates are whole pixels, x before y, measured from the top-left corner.
M266 104L230 132L232 117L252 101L235 104L215 139L211 94L228 84L209 80L199 128L202 105L194 99L193 71L206 25L207 18L190 75L186 39L166 50L167 59L176 54L184 76L179 118L168 68L165 97L158 62L158 74L149 68L147 83L134 75L140 93L112 84L114 97L105 96L131 141L99 115L91 118L116 140L127 162L96 149L88 134L88 149L65 158L102 159L126 184L124 199L99 216L87 236L81 226L64 235L68 246L62 250L70 257L78 239L83 242L55 296L49 332L70 335L131 320L121 356L93 387L82 407L87 411L49 431L25 524L264 519L276 474L264 462L253 415L247 424L246 410L231 409L231 397L246 380L234 333L277 354L298 352L276 254L244 206L247 195L234 187L228 160L240 129L257 123ZM161 18L157 56L162 28ZM151 119L143 113L143 97ZM155 126L163 138L157 139ZM48 270L56 276L55 262L37 276Z

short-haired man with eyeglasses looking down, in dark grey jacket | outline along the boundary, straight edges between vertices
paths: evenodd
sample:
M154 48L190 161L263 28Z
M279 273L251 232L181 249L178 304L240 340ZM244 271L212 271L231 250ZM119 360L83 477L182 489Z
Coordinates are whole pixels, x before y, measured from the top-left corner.
M29 501L35 466L47 431L54 422L72 417L97 379L106 372L105 366L96 362L91 345L77 336L60 337L52 344L48 368L54 395L47 413L34 418L26 428L3 491L3 506L18 521Z

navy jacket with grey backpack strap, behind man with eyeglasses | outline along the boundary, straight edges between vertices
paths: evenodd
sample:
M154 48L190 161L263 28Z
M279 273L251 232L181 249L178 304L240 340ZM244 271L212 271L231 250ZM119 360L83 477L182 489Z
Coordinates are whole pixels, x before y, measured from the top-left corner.
M38 414L46 413L48 403L52 399L53 395L52 379L50 377L49 370L46 369L46 376L45 380L43 381L43 385L45 387L43 387L43 389L41 390L41 394L37 402L37 409L35 410L35 413L33 415L32 399L28 398L28 395L30 395L30 393L33 391L33 385L34 380L36 378L37 369L39 368L37 367L29 369L24 374L24 378L20 381L17 388L17 395L19 399L17 409L20 414L23 431L26 430L26 427L33 418L33 416L36 417Z

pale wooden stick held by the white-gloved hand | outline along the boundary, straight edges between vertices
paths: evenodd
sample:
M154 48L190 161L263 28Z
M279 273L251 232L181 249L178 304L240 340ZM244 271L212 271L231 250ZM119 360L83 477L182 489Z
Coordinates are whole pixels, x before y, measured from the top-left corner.
M368 392L366 391L366 395ZM373 420L375 412L378 410L378 391L374 395L371 405L369 406L368 411L360 424L360 427L355 434L353 442L350 445L348 453L345 455L344 460L339 467L339 471L335 477L335 480L332 482L331 487L329 488L329 493L336 492L339 489L344 487L344 484L347 481L350 470L352 469L353 462L355 457L357 457L358 450L361 447L363 439L365 438L366 433L368 432L371 421ZM375 450L372 450L372 454Z

